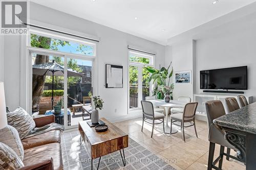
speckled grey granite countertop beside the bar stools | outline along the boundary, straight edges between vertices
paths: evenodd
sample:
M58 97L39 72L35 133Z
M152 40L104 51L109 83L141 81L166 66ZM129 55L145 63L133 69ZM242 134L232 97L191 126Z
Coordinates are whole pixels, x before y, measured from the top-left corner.
M214 119L214 124L256 134L256 102Z

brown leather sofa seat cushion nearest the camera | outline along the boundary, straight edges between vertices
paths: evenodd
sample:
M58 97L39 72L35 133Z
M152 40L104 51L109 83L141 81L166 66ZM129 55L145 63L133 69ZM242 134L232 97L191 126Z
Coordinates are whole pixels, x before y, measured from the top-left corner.
M54 169L63 169L61 148L59 143L49 143L24 150L25 166L35 164L46 159L53 159Z

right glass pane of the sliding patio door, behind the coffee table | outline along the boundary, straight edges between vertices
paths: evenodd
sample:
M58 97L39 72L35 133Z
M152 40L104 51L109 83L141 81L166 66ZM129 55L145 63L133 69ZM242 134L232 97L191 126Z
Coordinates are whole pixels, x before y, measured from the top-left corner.
M90 119L92 96L92 61L68 58L68 126Z

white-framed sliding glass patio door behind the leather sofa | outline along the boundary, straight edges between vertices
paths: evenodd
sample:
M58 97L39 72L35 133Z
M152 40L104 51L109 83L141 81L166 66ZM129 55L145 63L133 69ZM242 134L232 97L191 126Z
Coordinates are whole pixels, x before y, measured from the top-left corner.
M91 106L91 95L95 93L95 61L92 57L84 57L60 52L37 49L29 50L29 90L28 108L30 113L40 115L53 114L53 108L63 100L60 114L55 114L55 121L65 129L76 128L78 122L88 119L83 113L82 106ZM40 64L37 62L40 60ZM43 61L43 62L42 62ZM63 67L63 75L44 75L44 66L56 63ZM36 67L40 67L35 69ZM74 75L70 72L78 72ZM40 87L37 87L36 84ZM35 89L37 88L37 89Z

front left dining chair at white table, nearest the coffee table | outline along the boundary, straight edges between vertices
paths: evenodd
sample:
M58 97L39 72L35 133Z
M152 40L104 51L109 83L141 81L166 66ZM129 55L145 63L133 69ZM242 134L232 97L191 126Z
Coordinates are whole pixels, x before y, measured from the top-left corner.
M144 121L148 124L152 124L151 138L153 136L155 125L163 123L163 131L164 131L164 114L155 112L153 104L150 101L141 101L141 106L142 106L142 112L143 112L141 132L143 132ZM152 120L152 123L148 122L147 119ZM155 120L161 120L161 122L155 123Z

